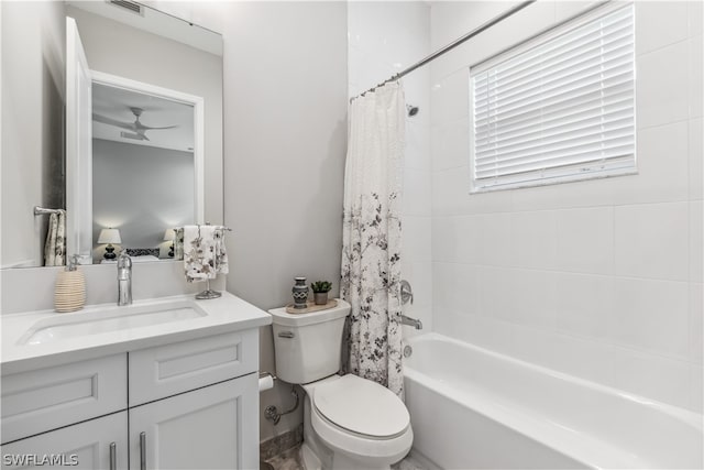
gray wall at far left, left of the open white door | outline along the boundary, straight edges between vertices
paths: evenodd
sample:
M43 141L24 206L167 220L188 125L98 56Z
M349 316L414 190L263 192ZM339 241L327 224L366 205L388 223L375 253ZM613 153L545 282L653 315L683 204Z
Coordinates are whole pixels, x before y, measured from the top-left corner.
M0 265L43 264L47 216L64 207L63 2L1 2L2 222Z

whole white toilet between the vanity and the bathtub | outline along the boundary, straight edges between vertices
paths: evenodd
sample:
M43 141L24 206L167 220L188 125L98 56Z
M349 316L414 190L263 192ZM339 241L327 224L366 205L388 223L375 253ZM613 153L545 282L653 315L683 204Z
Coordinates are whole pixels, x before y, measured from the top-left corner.
M344 318L350 304L310 314L270 310L276 375L306 391L304 445L307 470L388 469L414 441L406 405L384 386L340 376Z

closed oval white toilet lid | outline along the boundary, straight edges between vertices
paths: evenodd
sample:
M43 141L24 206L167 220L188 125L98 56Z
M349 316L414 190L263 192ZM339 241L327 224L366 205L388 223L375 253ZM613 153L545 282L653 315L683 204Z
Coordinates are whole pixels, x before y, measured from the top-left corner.
M410 423L406 405L391 390L352 374L317 386L314 404L337 426L371 437L399 435Z

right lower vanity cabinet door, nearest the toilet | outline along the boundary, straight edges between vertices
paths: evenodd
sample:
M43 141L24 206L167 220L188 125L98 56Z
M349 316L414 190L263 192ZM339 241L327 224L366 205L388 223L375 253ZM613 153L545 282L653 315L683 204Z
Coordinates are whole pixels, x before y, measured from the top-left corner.
M130 408L130 468L258 468L255 373Z

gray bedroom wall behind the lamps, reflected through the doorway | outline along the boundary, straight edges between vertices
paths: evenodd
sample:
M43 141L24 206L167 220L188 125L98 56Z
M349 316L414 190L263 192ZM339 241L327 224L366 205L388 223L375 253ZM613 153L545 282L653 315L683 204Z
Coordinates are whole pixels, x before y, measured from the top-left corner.
M92 195L92 239L119 227L123 248L160 248L166 255L164 231L194 221L194 175L193 152L94 139L92 184L100 190ZM105 245L96 248L100 262Z

